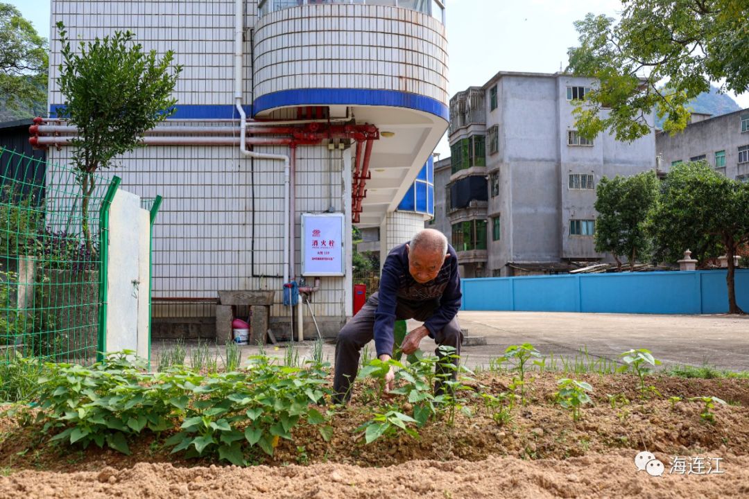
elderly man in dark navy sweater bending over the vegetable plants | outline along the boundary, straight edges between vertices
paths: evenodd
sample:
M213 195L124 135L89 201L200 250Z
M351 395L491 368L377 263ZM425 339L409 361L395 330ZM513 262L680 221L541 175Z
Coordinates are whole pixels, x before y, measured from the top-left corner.
M410 354L425 337L438 346L452 346L460 355L463 335L458 325L461 307L461 278L458 255L438 230L419 231L410 243L395 246L382 268L380 290L369 297L364 307L346 324L336 345L336 376L333 390L336 402L351 398L351 384L357 377L359 352L375 338L377 358L388 361L392 356L393 329L396 319L416 319L424 325L410 331L401 350ZM437 348L437 355L442 355ZM435 391L442 393L441 379L455 379L455 367L437 363ZM392 390L392 368L385 379L385 390Z

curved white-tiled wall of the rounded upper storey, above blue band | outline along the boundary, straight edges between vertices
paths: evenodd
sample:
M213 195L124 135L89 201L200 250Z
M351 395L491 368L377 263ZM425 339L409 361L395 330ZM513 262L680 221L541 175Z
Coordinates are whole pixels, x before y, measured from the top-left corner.
M330 7L341 16L331 19ZM255 98L291 88L385 89L448 102L445 28L416 11L372 5L267 14L255 26Z

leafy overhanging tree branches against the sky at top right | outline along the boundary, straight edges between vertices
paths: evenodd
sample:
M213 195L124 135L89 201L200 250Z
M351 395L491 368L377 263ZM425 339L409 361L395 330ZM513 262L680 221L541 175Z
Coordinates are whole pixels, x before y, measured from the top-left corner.
M575 22L580 46L569 49L567 70L599 82L574 109L583 136L609 130L632 141L650 132L654 109L673 134L687 125L688 102L709 91L711 81L724 82L721 91L749 90L746 0L622 4L618 23L592 13Z

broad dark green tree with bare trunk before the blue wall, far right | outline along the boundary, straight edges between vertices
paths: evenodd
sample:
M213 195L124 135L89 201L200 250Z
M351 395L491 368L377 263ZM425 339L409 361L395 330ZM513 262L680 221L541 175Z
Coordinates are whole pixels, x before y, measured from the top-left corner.
M703 257L725 253L729 313L743 313L736 304L733 256L749 242L749 184L705 162L676 165L661 185L651 223L658 252L671 259L696 245Z

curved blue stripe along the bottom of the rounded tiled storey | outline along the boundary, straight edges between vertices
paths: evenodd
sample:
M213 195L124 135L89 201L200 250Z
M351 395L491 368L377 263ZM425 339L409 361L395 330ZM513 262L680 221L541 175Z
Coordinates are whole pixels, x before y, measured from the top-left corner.
M450 120L442 102L419 94L363 88L297 88L265 94L254 102L255 113L287 105L387 105L424 111Z

